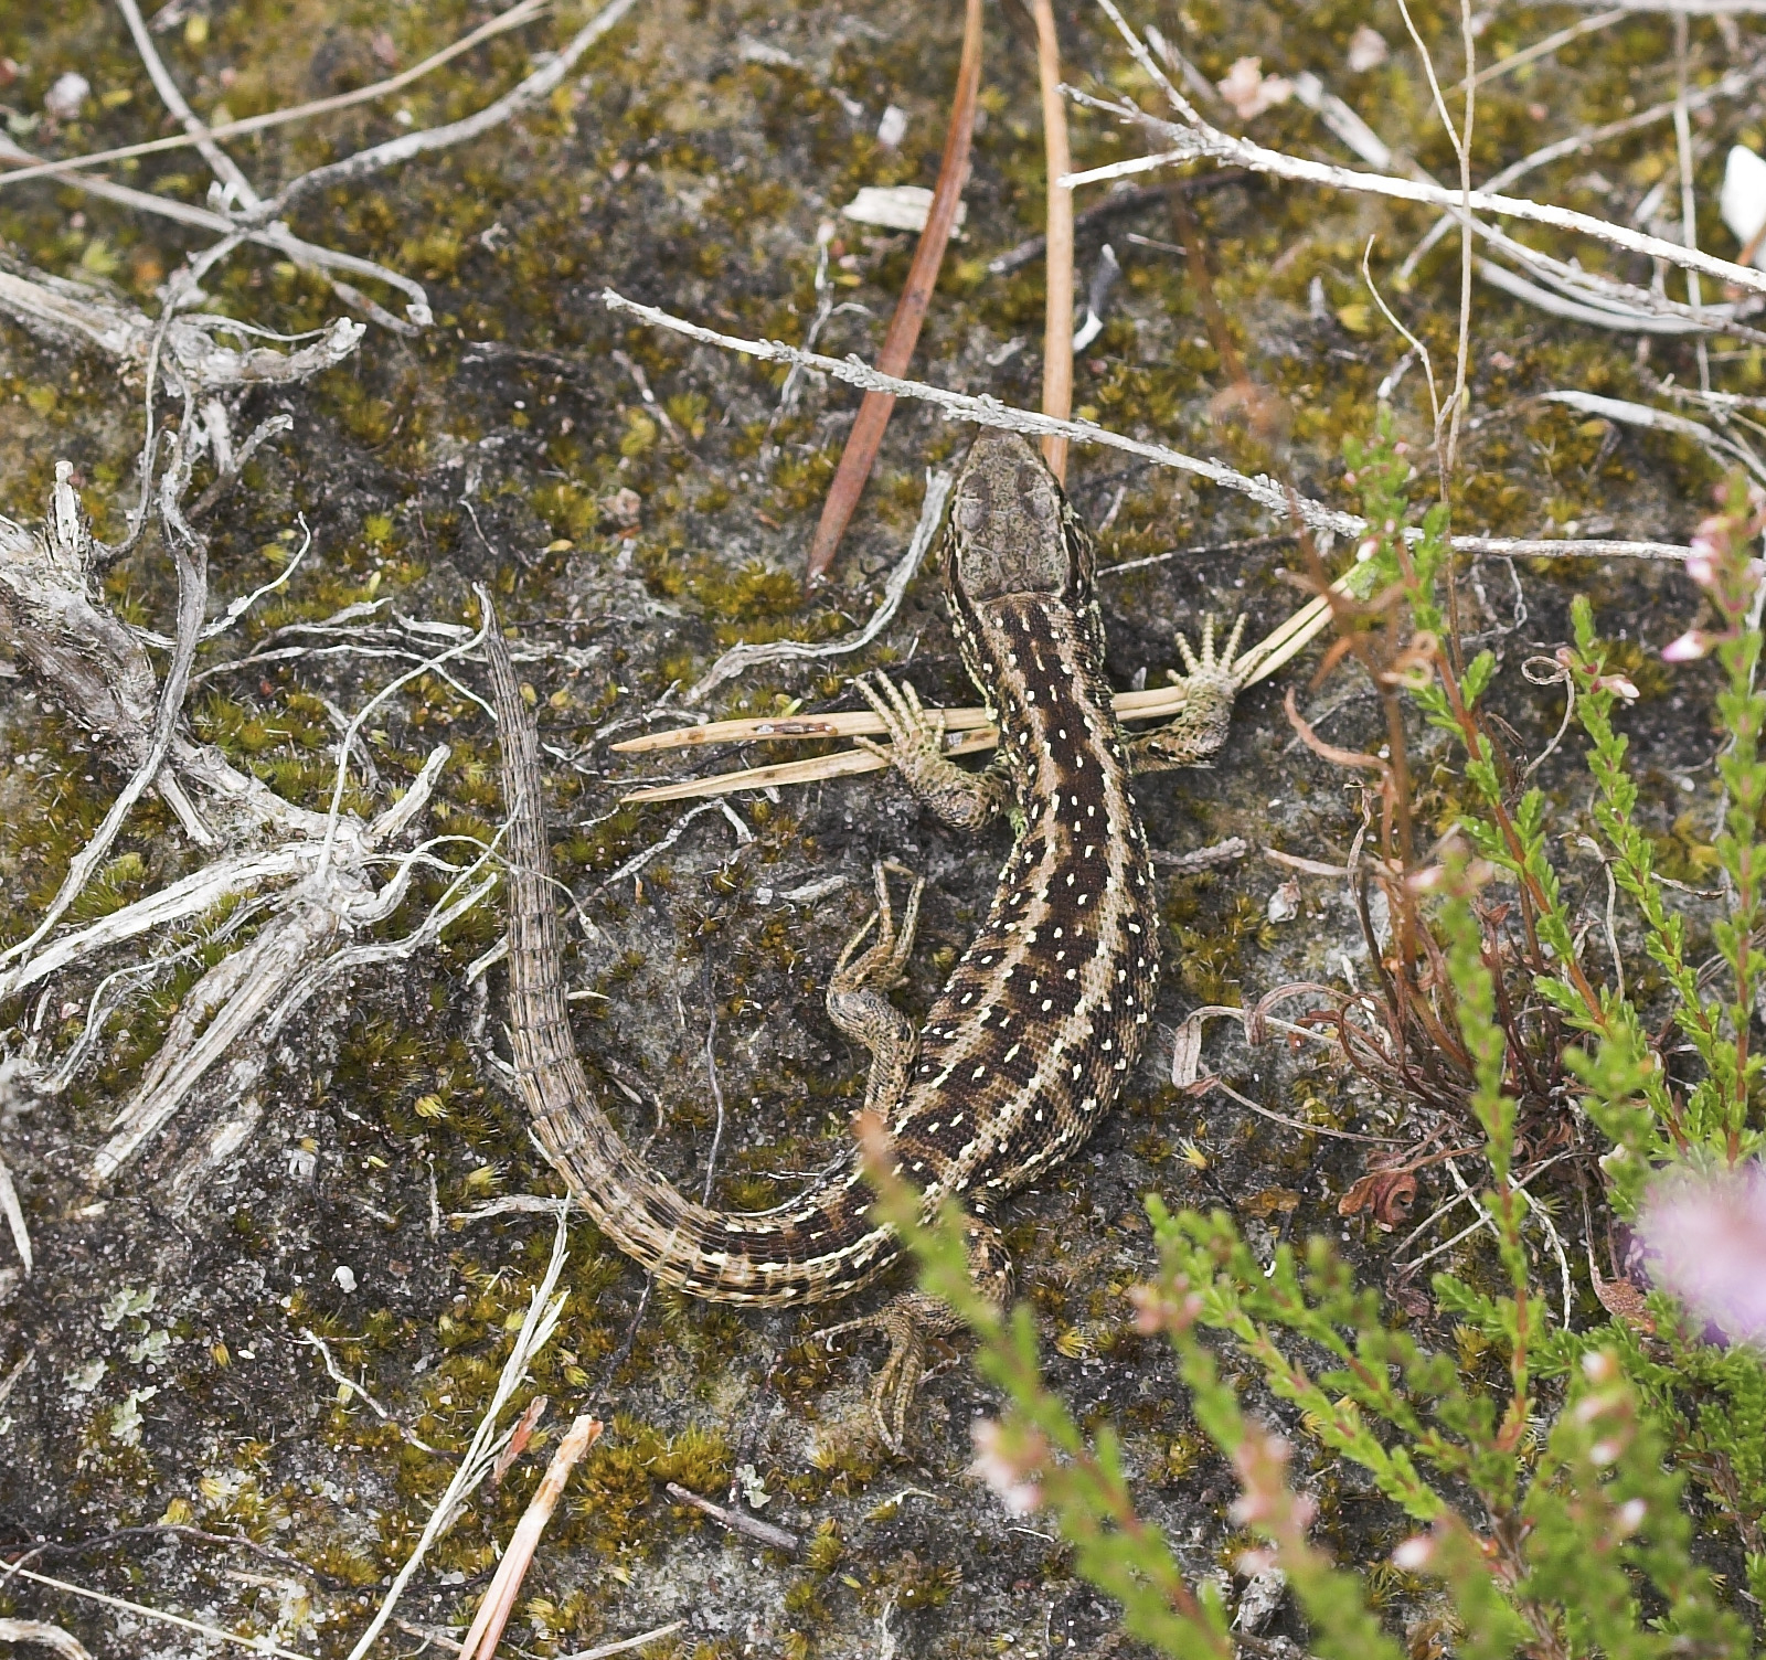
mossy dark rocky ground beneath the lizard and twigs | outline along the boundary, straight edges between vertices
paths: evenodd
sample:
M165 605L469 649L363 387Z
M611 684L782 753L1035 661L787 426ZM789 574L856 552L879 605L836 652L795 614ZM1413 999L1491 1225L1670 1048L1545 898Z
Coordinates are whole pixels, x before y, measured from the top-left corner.
M1068 79L1130 90L1151 106L1107 21L1088 7L1060 11ZM155 39L192 104L219 122L221 104L251 115L383 78L486 16L459 0L177 0L173 25ZM240 140L233 154L270 189L334 154L456 118L526 74L586 16L569 0L389 99ZM1503 11L1480 51L1494 60L1575 16ZM1390 145L1455 177L1402 23L1383 5L1190 0L1137 21L1155 21L1211 79L1250 55L1270 72L1310 69ZM1745 60L1752 44L1724 21L1727 34L1704 21L1692 30L1699 81ZM728 812L696 816L641 871L609 879L669 835L682 809L620 807L623 789L666 768L608 745L698 713L682 689L736 639L823 639L858 627L906 546L925 470L957 456L968 433L924 406L899 408L835 579L805 600L804 553L853 394L807 378L782 401L782 371L616 318L600 290L731 334L802 341L818 313L825 245L834 307L819 346L872 357L911 237L841 219L839 208L860 185L932 182L959 23L954 9L895 0L864 9L639 0L539 109L306 200L290 215L298 235L422 283L434 320L406 334L371 321L339 366L245 394L242 429L277 411L291 426L205 523L212 615L286 565L300 519L311 526L314 549L286 588L203 646L185 708L196 740L320 812L339 715L410 666L408 657L389 666L387 653L426 638L399 634L396 620L475 625L473 585L494 593L551 766L558 867L576 901L581 1047L627 1134L648 1139L655 1164L694 1190L717 1128L715 1068L726 1123L712 1194L735 1208L789 1196L848 1136L864 1056L835 1033L821 992L871 906L872 862L899 860L927 878L920 948L899 994L918 1010L984 913L1005 841L966 842L922 816L899 784L862 777L736 796ZM1443 79L1457 78L1457 18L1427 16L1422 26ZM1015 5L991 11L987 28L968 223L915 369L1035 406L1042 263L989 272L989 260L1040 224L1035 58ZM1346 53L1365 28L1385 35L1390 57L1353 71ZM97 0L53 12L0 5L0 53L9 127L41 154L173 127L124 23ZM85 76L87 95L60 118L46 115L67 72ZM1637 16L1593 34L1480 94L1476 171L1672 92L1667 19ZM876 134L890 106L906 124L885 147ZM1699 233L1725 256L1734 245L1715 215L1722 157L1734 141L1757 145L1757 102L1743 95L1692 127ZM1298 99L1249 129L1294 154L1349 161ZM1081 166L1139 145L1134 132L1075 115ZM1529 189L1623 221L1674 166L1664 122L1570 157ZM115 177L175 201L208 200L210 175L189 150L138 159ZM1100 200L1095 191L1081 208ZM1353 507L1340 447L1370 431L1374 390L1404 351L1362 283L1370 235L1390 302L1432 348L1438 373L1450 373L1453 240L1406 291L1392 284L1430 217L1241 178L1192 194L1181 217L1169 200L1151 200L1084 226L1081 291L1106 240L1123 279L1075 364L1075 406L1118 431L1270 468L1305 494ZM825 224L832 240L818 244ZM0 237L21 268L95 284L150 314L157 284L205 245L198 231L55 180L0 189ZM1181 244L1199 247L1204 270L1174 251ZM1598 258L1591 245L1581 254ZM1612 268L1649 281L1648 261ZM358 281L403 311L399 295ZM235 253L205 288L207 309L283 334L350 314L274 249ZM1279 443L1252 434L1217 397L1227 378L1210 306L1245 371L1286 401ZM1722 389L1754 392L1759 350L1718 339L1709 373ZM1688 343L1589 328L1480 286L1455 528L1685 540L1718 477L1694 443L1536 397L1577 389L1649 399L1669 378L1697 383ZM140 373L7 321L0 399L0 509L39 523L65 459L95 533L118 539L138 489ZM177 406L166 410L177 422ZM1395 415L1422 452L1429 417L1416 369L1399 387ZM1180 666L1176 630L1194 630L1203 615L1249 613L1256 638L1294 609L1303 593L1284 567L1300 560L1279 519L1125 461L1102 449L1074 454L1070 487L1102 526L1100 560L1208 549L1102 579L1113 678L1157 685ZM198 487L207 477L198 473ZM1602 627L1623 643L1642 692L1626 729L1644 812L1669 872L1692 878L1715 812L1709 685L1702 668L1671 678L1655 657L1695 615L1683 577L1619 560L1469 567L1468 632L1501 655L1494 706L1517 754L1538 752L1558 729L1561 690L1529 683L1522 664L1563 641L1574 592L1593 597ZM170 630L173 576L161 540L150 535L109 563L101 593L118 616ZM327 622L332 632L297 629ZM433 652L443 636L427 638L422 650ZM339 650L346 645L357 650ZM300 650L261 655L286 646ZM249 653L260 655L242 666ZM1342 881L1261 853L1340 865L1360 825L1351 773L1307 751L1282 712L1293 689L1330 742L1379 745L1367 687L1347 673L1314 685L1317 657L1314 648L1243 699L1213 770L1148 782L1143 805L1160 849L1243 837L1252 851L1169 878L1160 1035L1097 1141L1010 1213L1049 1376L1088 1422L1120 1425L1144 1513L1197 1575L1229 1572L1241 1540L1226 1517L1229 1475L1203 1448L1171 1358L1121 1330L1125 1291L1151 1266L1143 1196L1229 1206L1264 1245L1332 1231L1376 1280L1386 1279L1393 1243L1369 1217L1339 1217L1367 1148L1324 1132L1402 1130L1402 1100L1356 1084L1324 1051L1250 1051L1227 1040L1226 1026L1210 1028L1208 1067L1319 1134L1169 1083L1173 1031L1192 1008L1252 1003L1289 980L1340 985L1369 975ZM864 653L751 671L703 712L853 708L848 675L867 666L906 675L929 701L973 701L931 572ZM484 675L472 660L450 675L427 673L374 710L364 726L371 759L351 773L348 805L362 816L383 809L445 740L426 834L487 841L502 804L494 729L477 701ZM16 939L42 915L127 766L34 680L16 641L0 646L0 932ZM1459 781L1429 735L1416 733L1416 745L1420 819L1441 826ZM692 766L759 759L743 751L696 756ZM1572 812L1588 798L1574 745L1540 777ZM164 888L205 856L150 796L74 920ZM1561 867L1598 917L1596 862L1565 844ZM366 938L410 932L443 879L420 871L403 906ZM32 1563L41 1572L274 1634L295 1653L348 1653L472 1436L551 1250L549 1213L487 1210L503 1196L562 1190L494 1060L502 970L468 973L498 939L498 904L486 899L440 945L328 984L275 1038L253 1084L256 1116L240 1120L245 1130L219 1155L215 1127L238 1109L224 1067L113 1180L90 1180L180 1000L226 950L200 931L177 936L194 941L194 954L111 1005L102 1040L65 1090L7 1086L0 1157L35 1252L30 1277L7 1257L0 1280L9 1558L49 1542ZM76 964L0 1008L9 1022L0 1045L21 1054L35 1038L39 1058L65 1054L99 980L124 961L134 959ZM1446 1178L1429 1173L1415 1219L1450 1194ZM1574 1183L1559 1220L1579 1266L1572 1196ZM574 1411L599 1413L608 1430L546 1536L507 1651L569 1655L680 1621L645 1653L1136 1653L1116 1611L1074 1575L1067 1547L1037 1517L1008 1517L966 1473L970 1422L996 1400L961 1347L938 1356L908 1455L892 1457L865 1407L879 1353L814 1344L819 1310L747 1316L666 1293L645 1300L643 1277L581 1220L560 1284L569 1305L517 1406L535 1392L549 1397L542 1446ZM1411 1298L1427 1326L1427 1298ZM1595 1317L1593 1296L1581 1300ZM314 1339L366 1395L328 1376ZM1353 1473L1312 1457L1323 1536L1347 1558L1376 1561L1399 1536L1397 1513ZM404 1623L389 1628L381 1653L449 1651L443 1639L450 1630L457 1639L470 1618L533 1480L530 1453L472 1501L411 1581L397 1611ZM669 1482L798 1535L802 1549L717 1528L673 1501ZM152 1522L185 1531L118 1533ZM253 1547L237 1543L247 1538ZM101 1656L210 1651L189 1632L41 1584L14 1581L0 1600L58 1621ZM1397 1605L1393 1619L1404 1621ZM1268 1630L1300 1635L1291 1611Z

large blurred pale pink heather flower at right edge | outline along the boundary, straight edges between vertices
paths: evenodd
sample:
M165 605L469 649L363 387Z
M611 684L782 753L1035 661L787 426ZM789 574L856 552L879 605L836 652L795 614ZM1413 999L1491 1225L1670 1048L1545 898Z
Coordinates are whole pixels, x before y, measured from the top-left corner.
M1658 1181L1637 1233L1655 1284L1732 1342L1766 1347L1766 1166Z

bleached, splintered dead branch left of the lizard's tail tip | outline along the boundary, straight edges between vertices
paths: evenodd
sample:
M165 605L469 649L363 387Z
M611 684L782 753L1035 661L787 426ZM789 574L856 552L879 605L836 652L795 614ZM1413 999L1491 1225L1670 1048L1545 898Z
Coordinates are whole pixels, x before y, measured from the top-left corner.
M219 623L203 623L207 581L201 544L189 530L180 505L189 486L189 456L198 441L205 441L217 452L217 464L226 464L228 459L237 463L238 457L226 443L224 413L219 406L205 420L192 422L189 396L185 403L180 441L185 434L189 438L161 479L159 512L168 526L173 551L180 555L180 620L171 645L173 664L182 662L187 673L196 645L219 627L237 622L256 597L277 583L235 600ZM57 902L30 936L0 955L4 964L0 998L16 996L53 973L85 968L102 952L152 931L189 924L240 897L261 895L265 887L291 883L258 901L260 913L268 909L270 917L251 918L258 927L256 936L217 962L185 996L147 1077L113 1123L109 1141L94 1160L92 1180L102 1183L164 1128L198 1083L215 1067L224 1063L224 1093L235 1102L244 1102L242 1111L247 1111L254 1102L253 1086L268 1067L277 1026L314 989L364 962L410 957L433 945L450 922L491 892L494 876L472 881L472 874L487 856L480 849L479 862L456 872L442 901L404 939L348 947L351 936L378 925L403 902L420 860L434 862L427 853L433 844L426 844L415 853L394 856L392 878L383 885L376 887L367 874L369 865L389 856L381 849L403 835L427 805L447 761L447 747L438 747L429 756L404 796L373 823L364 825L341 811L341 786L334 791L330 811L323 814L284 802L256 779L231 768L219 751L194 743L184 735L182 685L170 675L164 685L155 685L138 630L124 627L94 595L90 572L95 560L97 544L85 524L65 466L51 494L44 535L30 535L11 521L0 521L0 630L11 636L37 678L88 731L102 735L118 759L131 766L131 788L113 804L101 834L76 856ZM479 638L472 630L464 630L463 636L452 636L450 630L449 634L449 646L420 657L417 668L397 676L392 687L369 701L367 710L413 675L470 650ZM348 756L367 710L346 722L339 745L341 758ZM343 766L344 761L339 759L339 779ZM210 814L215 807L221 809L217 819L223 826L221 835L210 832L198 818L180 779L196 788ZM129 805L155 781L168 793L168 800L182 804L180 816L203 830L200 839L207 846L235 842L238 837L256 841L265 830L279 832L284 839L268 851L226 848L203 871L85 929L51 939L55 924L108 855ZM145 980L166 961L150 959L136 973ZM124 971L108 977L104 985L115 982L120 973ZM104 1017L104 985L92 1000L88 1012L92 1026ZM97 1037L92 1030L81 1033L76 1047L62 1056L53 1072L46 1072L39 1061L35 1038L18 1060L35 1070L39 1090L53 1093L65 1088L78 1067L88 1060ZM223 1151L231 1151L238 1137L223 1136L221 1143L226 1143Z

